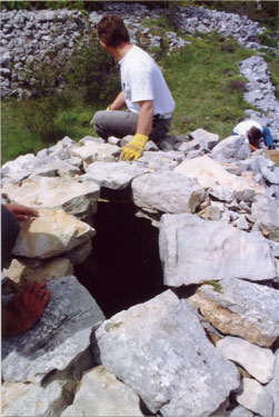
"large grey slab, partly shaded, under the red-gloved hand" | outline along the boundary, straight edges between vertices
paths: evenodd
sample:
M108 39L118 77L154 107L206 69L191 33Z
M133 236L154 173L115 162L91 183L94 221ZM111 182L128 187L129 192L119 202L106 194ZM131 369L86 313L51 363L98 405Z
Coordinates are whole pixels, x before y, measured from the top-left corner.
M2 338L2 378L9 383L40 384L63 370L90 346L90 335L104 316L77 278L48 284L52 295L40 321L18 336Z

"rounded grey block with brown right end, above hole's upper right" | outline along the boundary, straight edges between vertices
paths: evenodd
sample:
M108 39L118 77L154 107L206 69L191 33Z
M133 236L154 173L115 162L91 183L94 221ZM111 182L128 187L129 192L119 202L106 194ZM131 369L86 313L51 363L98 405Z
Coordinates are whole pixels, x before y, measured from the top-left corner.
M132 181L136 206L163 212L195 212L207 195L191 178L179 172L159 171Z

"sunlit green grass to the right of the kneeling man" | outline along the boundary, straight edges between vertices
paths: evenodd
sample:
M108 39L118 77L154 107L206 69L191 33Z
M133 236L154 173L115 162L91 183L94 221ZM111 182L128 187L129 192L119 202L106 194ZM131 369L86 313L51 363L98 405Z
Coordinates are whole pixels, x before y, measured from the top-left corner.
M233 89L231 81L245 80L237 62L253 52L233 40L228 42L233 52L222 51L220 37L212 33L193 39L191 44L161 60L177 105L172 132L189 133L203 128L225 138L245 117L245 110L251 108L243 99L243 91Z

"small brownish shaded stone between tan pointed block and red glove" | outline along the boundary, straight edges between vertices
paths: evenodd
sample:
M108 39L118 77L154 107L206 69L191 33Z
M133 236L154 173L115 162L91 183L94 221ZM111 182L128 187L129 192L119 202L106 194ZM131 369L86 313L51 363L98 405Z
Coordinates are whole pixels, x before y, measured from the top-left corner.
M18 289L22 289L29 281L50 281L51 279L62 278L72 274L72 264L67 258L47 260L14 258L8 269L8 277Z

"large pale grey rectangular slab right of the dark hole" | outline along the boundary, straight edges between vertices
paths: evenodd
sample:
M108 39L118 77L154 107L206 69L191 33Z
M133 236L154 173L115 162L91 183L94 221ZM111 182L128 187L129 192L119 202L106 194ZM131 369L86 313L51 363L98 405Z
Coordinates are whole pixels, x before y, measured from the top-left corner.
M277 277L275 258L263 237L189 214L161 217L159 249L163 282L171 287L211 279L257 281Z

